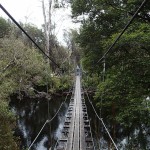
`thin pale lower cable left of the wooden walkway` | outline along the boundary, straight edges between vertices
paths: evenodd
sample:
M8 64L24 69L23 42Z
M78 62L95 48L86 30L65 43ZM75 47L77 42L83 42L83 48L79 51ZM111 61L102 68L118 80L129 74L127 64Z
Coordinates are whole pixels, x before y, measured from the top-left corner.
M30 146L29 146L28 150L30 150L30 149L31 149L31 147L33 146L34 142L36 141L36 139L39 137L40 133L41 133L41 132L42 132L42 130L44 129L45 125L46 125L47 123L52 122L52 121L54 120L54 118L57 116L57 114L59 113L59 111L60 111L60 109L61 109L62 105L66 102L68 95L69 95L69 94L67 94L67 95L66 95L65 100L61 103L61 105L60 105L59 109L57 110L57 112L55 113L55 115L53 116L53 118L52 118L52 119L50 119L50 120L46 120L46 121L45 121L45 123L44 123L44 125L42 126L41 130L39 131L39 133L37 134L37 136L35 137L35 139L33 140L33 142L30 144Z

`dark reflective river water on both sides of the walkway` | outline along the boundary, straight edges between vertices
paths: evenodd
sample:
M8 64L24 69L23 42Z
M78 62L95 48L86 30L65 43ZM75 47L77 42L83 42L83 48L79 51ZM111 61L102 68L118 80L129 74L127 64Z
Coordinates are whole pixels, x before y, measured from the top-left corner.
M65 97L52 97L50 101L50 117L53 117L57 112ZM62 106L57 117L47 124L40 136L37 138L32 150L47 150L50 146L54 147L57 139L61 135L61 129L65 120L69 98ZM95 141L96 150L114 150L112 142L108 137L102 123L96 117L91 105L86 100L89 119L91 120L91 129ZM17 116L17 128L15 135L20 137L21 147L23 150L28 148L34 140L41 127L48 117L48 101L46 99L29 99L24 98L21 101L13 97L10 102L11 110ZM97 111L98 112L98 111ZM112 124L107 122L107 116L103 116L103 120L112 131ZM142 123L140 124L142 125ZM119 150L149 150L150 149L150 128L143 127L124 129L117 125L115 129L115 137L113 132L110 132Z

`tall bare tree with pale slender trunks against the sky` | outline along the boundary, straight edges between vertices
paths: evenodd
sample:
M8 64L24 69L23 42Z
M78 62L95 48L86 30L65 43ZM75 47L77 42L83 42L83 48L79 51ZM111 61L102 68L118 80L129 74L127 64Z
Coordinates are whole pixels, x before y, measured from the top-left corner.
M65 3L63 0L62 1L48 0L47 5L48 5L48 7L46 7L46 2L44 0L42 0L42 10L43 10L43 17L44 17L43 27L44 27L44 37L45 37L45 52L54 61L57 61L58 58L62 58L61 57L62 46L59 46L56 35L53 32L55 29L55 22L53 21L52 18L55 14L55 11L61 7L64 7ZM65 54L65 53L66 52L64 51L63 54ZM60 60L58 60L58 61L60 61ZM49 64L50 64L52 70L55 72L56 66L50 62L49 62Z

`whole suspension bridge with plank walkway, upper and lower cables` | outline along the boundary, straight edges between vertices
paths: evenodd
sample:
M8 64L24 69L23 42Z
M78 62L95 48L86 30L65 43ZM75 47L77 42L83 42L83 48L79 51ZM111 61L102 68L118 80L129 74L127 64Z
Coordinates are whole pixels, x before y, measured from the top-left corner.
M114 45L117 43L117 41L120 39L120 37L124 34L124 32L128 29L129 25L133 22L137 14L140 12L142 7L145 5L145 3L148 0L144 0L140 7L137 9L137 11L134 13L130 21L127 23L127 25L123 28L122 32L118 35L118 37L115 39L113 44L108 48L108 50L104 53L104 55L97 61L97 64L104 60L104 66L105 66L105 57L113 50ZM60 66L48 55L45 54L45 52L39 47L39 45L29 36L29 34L16 22L16 20L8 13L8 11L0 4L0 8L11 18L11 20L18 26L18 28L21 29L21 31L33 42L33 44L52 62L54 63L58 68ZM61 69L61 68L60 68ZM118 150L115 142L113 141L103 119L99 117L97 114L92 102L90 101L88 97L88 93L86 91L83 91L82 85L81 85L81 70L79 67L76 68L76 76L75 76L75 85L72 90L72 96L70 100L70 104L68 107L67 115L65 118L64 126L61 132L61 137L57 140L57 143L54 147L55 150L95 150L94 147L94 141L92 137L91 127L90 127L90 120L88 118L87 114L87 107L85 104L84 94L87 95L87 98L97 116L97 118L101 121L105 131L107 132L109 138L111 139L111 142L114 145L114 148ZM67 99L67 98L66 98ZM65 99L65 101L66 101ZM64 101L64 102L65 102ZM58 111L56 114L52 117L51 120L46 120L44 125L42 126L41 130L39 131L38 135L35 137L31 145L29 146L28 150L31 149L33 144L35 143L36 139L42 132L43 128L46 126L47 123L50 123L53 121L53 119L57 116L59 110L61 109L63 103L60 105Z

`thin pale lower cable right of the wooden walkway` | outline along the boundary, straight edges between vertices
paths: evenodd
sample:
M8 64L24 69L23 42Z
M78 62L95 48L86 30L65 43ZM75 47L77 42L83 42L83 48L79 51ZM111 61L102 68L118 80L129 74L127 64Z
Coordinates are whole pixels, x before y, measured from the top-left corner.
M104 128L105 128L105 130L106 130L106 132L107 132L107 134L108 134L108 136L109 136L109 138L111 139L112 143L114 144L114 147L116 148L116 150L118 150L117 145L115 144L113 138L111 137L111 135L110 135L110 133L109 133L109 131L108 131L108 129L107 129L107 127L106 127L106 125L105 125L103 119L100 118L99 115L97 114L97 112L96 112L96 110L95 110L95 108L94 108L94 106L93 106L93 104L92 104L92 102L91 102L91 100L90 100L90 98L89 98L89 95L88 95L88 93L87 93L86 90L85 90L85 93L86 93L86 96L87 96L87 98L88 98L88 101L89 101L89 103L91 104L91 106L92 106L92 108L93 108L93 110L94 110L94 112L95 112L97 118L102 122L102 124L103 124L103 126L104 126Z

